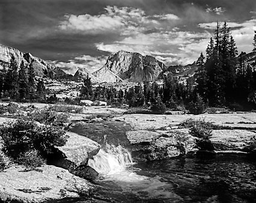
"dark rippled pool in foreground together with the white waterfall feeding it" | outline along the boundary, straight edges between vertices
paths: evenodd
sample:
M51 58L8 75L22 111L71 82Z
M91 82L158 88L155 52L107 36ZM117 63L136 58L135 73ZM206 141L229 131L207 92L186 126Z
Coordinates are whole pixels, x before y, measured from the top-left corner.
M127 150L106 145L89 165L100 174L98 189L72 202L256 202L256 163L247 156L133 163Z

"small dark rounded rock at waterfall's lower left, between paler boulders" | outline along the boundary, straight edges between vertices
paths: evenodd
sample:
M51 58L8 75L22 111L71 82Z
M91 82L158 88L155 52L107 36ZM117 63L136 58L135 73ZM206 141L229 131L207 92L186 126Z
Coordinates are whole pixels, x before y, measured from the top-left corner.
M86 165L81 165L75 168L73 174L90 181L95 180L99 175L99 173L95 171L95 169Z

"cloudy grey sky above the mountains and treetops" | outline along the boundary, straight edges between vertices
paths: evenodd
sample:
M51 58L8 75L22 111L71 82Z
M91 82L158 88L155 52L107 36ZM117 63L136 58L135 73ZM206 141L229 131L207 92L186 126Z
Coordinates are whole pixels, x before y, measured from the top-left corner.
M226 21L240 52L251 52L255 0L0 0L0 44L74 74L93 72L119 50L186 65L205 53Z

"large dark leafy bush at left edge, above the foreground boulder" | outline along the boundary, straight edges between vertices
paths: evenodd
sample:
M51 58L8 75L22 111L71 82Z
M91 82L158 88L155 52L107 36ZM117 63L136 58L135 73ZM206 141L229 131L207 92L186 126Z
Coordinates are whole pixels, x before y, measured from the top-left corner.
M38 126L34 121L20 119L2 124L0 136L4 142L4 153L17 163L26 165L43 163L41 156L48 156L54 146L63 146L67 141L64 130L54 126Z

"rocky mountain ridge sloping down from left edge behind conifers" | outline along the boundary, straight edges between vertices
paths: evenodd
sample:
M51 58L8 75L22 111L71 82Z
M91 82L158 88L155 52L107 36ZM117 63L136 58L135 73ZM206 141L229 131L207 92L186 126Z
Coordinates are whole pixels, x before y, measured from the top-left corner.
M71 79L72 75L66 74L63 70L56 67L55 64L45 61L43 59L37 58L31 53L23 53L12 47L7 47L0 44L0 64L8 65L11 61L11 57L14 57L18 67L22 61L25 65L33 65L36 76L46 76L53 79ZM0 68L1 66L0 65Z

